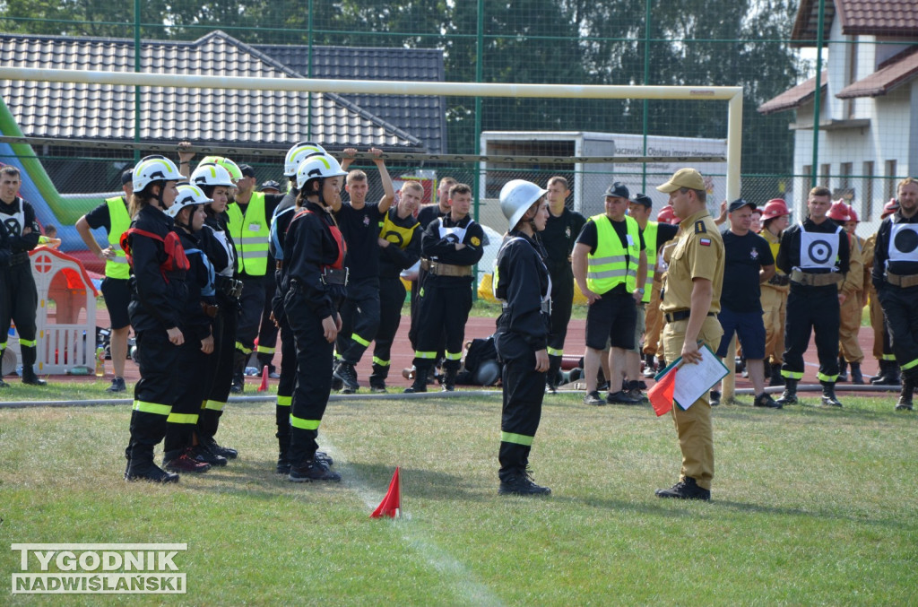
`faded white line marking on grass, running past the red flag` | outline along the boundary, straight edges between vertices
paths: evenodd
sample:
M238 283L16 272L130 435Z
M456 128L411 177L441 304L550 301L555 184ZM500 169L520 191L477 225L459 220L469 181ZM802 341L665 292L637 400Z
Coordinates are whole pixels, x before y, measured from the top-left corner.
M369 511L374 511L376 504L385 497L386 493L370 489L366 480L355 473L351 466L347 464L339 465L341 451L330 442L328 434L324 434L322 437L321 449L327 451L334 458L335 467L346 472L346 475L342 476L345 477L345 482L348 484L349 489L353 489L353 492L363 500ZM368 521L370 520L369 511L366 515ZM494 607L499 607L503 604L485 584L476 579L476 575L465 567L463 563L433 542L430 537L421 533L416 525L409 524L410 520L410 514L406 514L403 511L402 519L393 523L396 523L395 528L401 534L405 544L426 560L431 568L449 579L455 596L467 604L493 605Z

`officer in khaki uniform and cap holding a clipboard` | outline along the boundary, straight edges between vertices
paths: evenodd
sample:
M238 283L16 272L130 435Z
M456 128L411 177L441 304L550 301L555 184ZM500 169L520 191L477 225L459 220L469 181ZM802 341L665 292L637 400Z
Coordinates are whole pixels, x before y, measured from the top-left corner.
M682 356L685 363L696 363L701 357L698 342L715 349L723 334L717 320L723 285L723 241L705 206L707 191L698 171L680 169L656 189L669 194L669 203L681 219L660 306L666 317L663 349L668 361ZM710 500L714 477L710 396L705 394L688 410L673 407L673 419L682 450L682 472L679 482L669 489L657 489L656 496Z

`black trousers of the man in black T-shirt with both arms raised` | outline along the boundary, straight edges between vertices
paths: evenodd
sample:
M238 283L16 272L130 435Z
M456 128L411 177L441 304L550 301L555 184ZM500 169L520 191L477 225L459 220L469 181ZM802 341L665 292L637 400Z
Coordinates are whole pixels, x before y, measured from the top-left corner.
M341 360L356 365L379 331L379 277L349 280L336 343Z

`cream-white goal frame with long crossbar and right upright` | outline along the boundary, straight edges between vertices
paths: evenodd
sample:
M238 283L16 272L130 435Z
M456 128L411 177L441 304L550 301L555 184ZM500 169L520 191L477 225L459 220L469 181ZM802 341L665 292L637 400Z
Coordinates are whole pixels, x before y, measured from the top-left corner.
M170 73L50 70L22 67L0 67L0 80L367 95L726 101L728 103L726 199L733 200L740 197L740 167L743 147L742 86L476 84L386 80L316 80L310 78L243 78L238 76L198 76Z

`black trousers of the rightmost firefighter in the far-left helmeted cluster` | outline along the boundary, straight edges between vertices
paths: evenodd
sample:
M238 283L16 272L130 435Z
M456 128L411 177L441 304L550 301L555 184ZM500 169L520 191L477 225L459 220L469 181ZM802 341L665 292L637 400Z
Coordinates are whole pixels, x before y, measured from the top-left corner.
M229 399L232 385L233 357L236 349L236 301L218 294L219 311L214 319L214 354L210 355L204 380L205 391L197 420L199 436L213 438L217 434L220 416Z

